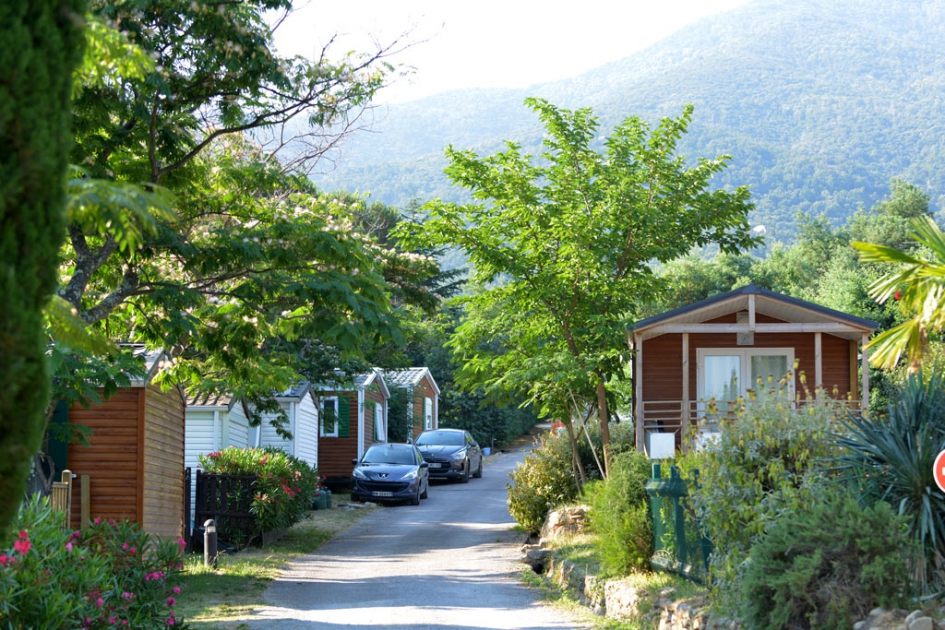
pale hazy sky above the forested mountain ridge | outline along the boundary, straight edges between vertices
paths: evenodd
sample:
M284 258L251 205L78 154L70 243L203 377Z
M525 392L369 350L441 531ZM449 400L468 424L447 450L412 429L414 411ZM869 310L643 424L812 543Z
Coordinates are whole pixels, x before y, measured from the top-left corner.
M381 94L410 101L459 88L556 81L616 61L685 24L748 0L296 0L276 31L283 55L311 57L327 38L337 54L367 51L407 31L391 58L416 72Z

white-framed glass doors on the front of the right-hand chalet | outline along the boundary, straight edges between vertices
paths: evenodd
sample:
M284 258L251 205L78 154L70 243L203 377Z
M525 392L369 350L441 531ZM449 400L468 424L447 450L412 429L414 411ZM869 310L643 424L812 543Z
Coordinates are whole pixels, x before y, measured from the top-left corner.
M759 379L764 387L777 387L794 367L793 348L699 348L696 358L700 401L735 400L757 389ZM793 385L791 379L788 387Z

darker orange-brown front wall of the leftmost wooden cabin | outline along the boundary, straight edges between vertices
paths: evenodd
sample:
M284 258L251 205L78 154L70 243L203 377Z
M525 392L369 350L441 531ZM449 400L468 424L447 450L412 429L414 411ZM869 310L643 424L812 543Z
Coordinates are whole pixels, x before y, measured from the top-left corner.
M89 427L89 446L69 445L72 484L72 523L82 518L82 475L90 481L91 517L141 521L138 492L139 418L144 389L120 389L103 405L69 409L69 422Z

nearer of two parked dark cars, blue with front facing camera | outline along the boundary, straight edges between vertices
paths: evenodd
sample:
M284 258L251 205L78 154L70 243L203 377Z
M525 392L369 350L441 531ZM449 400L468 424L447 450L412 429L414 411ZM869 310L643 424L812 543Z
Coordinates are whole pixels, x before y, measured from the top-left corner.
M413 444L375 444L351 460L352 501L410 501L420 505L430 487L428 464Z

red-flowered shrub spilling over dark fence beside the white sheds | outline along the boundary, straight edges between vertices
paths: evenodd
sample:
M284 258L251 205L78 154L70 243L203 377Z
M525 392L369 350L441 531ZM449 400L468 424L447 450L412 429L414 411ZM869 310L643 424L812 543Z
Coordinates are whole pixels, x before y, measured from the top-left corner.
M256 476L251 510L260 534L302 520L312 509L319 485L314 468L278 449L229 447L201 455L200 464L208 473Z

